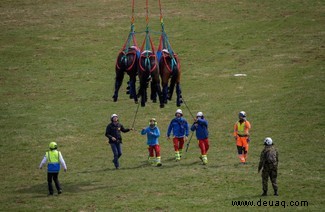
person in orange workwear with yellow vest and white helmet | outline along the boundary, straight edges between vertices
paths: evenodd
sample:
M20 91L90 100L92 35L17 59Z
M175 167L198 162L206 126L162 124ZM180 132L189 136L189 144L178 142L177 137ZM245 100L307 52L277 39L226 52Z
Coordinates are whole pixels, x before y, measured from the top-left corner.
M251 129L251 124L246 120L245 111L239 112L238 117L239 121L234 126L234 138L236 140L238 158L242 164L245 164L250 142L249 130Z

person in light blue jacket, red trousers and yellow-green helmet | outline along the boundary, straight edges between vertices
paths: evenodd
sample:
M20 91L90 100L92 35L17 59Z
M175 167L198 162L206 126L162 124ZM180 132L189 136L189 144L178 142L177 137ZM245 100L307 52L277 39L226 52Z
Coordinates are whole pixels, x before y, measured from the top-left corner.
M149 126L142 128L141 135L147 134L147 145L149 151L149 163L155 166L161 166L160 146L158 138L160 136L160 130L157 127L157 121L155 118L149 120Z

